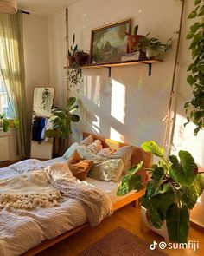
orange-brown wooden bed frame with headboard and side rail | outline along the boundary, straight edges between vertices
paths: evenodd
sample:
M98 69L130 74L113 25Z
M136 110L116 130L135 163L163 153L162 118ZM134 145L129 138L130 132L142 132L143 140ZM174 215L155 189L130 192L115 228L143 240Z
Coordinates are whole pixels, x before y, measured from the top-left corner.
M83 138L86 138L89 135L90 134L88 134L88 133L83 133ZM94 140L98 139L98 140L102 141L103 148L108 148L111 146L112 148L117 149L117 148L121 148L123 146L128 145L128 144L124 144L124 143L121 143L118 141L112 141L110 139L105 139L104 137L101 137L99 135L92 135L92 137ZM135 165L140 161L143 161L144 168L150 167L151 154L143 151L142 148L134 147L133 154L131 157L132 165ZM144 171L140 172L140 174L144 175ZM139 198L141 198L144 193L145 193L145 188L143 188L142 190L140 190L134 194L124 197L123 199L117 201L116 203L113 203L113 211L115 212L119 208L122 208L122 207L130 204L131 202L134 202L134 206L138 207ZM41 242L40 245L35 246L34 248L30 249L26 253L23 253L22 256L31 256L31 255L35 255L36 253L40 253L41 251L47 249L48 247L54 246L56 243L60 242L61 240L65 240L67 237L71 236L73 233L79 232L81 229L85 228L86 226L89 226L89 223L86 223L82 226L77 226L77 227L73 228L72 230L67 231L67 233L63 233L63 234L55 237L52 240L44 240Z

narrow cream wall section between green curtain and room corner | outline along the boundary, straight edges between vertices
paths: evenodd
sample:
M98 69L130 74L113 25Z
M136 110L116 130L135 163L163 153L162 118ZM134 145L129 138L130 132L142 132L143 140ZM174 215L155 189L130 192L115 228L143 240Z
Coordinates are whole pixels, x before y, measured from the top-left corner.
M49 81L48 17L23 14L27 116L30 123L33 90L52 86Z

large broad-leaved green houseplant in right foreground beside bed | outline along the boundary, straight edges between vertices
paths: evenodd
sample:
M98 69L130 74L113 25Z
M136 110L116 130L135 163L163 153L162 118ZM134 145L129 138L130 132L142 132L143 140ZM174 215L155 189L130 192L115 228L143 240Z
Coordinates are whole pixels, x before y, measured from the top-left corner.
M141 200L141 205L147 209L150 224L161 228L166 220L169 240L187 242L189 210L193 209L204 189L203 177L198 173L194 158L188 151L181 150L179 158L170 155L166 159L164 149L154 141L143 142L141 147L160 158L157 164L147 169L151 177L149 181L145 181L146 192ZM143 188L143 181L136 175L142 166L143 162L140 162L128 171L118 185L118 195Z

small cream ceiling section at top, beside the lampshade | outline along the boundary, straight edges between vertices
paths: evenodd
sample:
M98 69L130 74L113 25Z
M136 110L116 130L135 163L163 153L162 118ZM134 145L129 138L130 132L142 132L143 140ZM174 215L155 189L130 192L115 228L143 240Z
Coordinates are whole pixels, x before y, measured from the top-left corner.
M80 0L17 0L18 9L49 15Z

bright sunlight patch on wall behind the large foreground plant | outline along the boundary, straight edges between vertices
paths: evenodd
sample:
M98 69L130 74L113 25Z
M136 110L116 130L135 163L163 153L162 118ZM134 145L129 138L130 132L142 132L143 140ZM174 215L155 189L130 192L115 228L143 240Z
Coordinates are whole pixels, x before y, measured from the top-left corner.
M183 124L187 122L186 117L177 114L175 124L174 146L172 154L177 154L179 150L187 150L193 155L194 161L204 170L204 131L194 136L194 124L188 123L184 128Z

